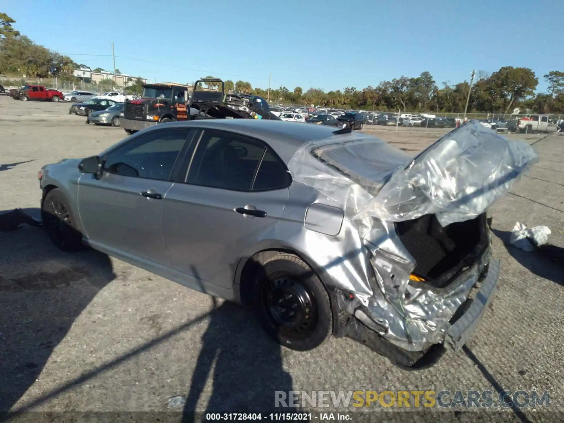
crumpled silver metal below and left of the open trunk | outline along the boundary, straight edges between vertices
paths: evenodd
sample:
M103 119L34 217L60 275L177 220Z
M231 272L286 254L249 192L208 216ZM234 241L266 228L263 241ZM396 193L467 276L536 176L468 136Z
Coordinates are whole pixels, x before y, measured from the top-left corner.
M378 325L384 325L386 331L378 331L377 326L372 329L408 351L422 351L434 343L442 343L448 322L466 301L481 269L490 260L491 248L447 291L433 292L409 284L415 260L400 242L393 222L374 218L371 230L365 232L364 237L372 254L378 285L369 298L365 314ZM367 323L358 309L351 314Z

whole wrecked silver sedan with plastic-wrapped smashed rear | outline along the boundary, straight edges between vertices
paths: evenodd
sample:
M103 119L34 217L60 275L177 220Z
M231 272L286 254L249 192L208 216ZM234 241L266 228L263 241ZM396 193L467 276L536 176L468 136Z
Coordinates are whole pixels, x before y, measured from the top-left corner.
M333 334L426 367L487 309L499 261L486 208L534 156L472 122L450 137L413 157L326 125L170 122L43 166L43 224L60 249L85 243L248 305L290 349Z

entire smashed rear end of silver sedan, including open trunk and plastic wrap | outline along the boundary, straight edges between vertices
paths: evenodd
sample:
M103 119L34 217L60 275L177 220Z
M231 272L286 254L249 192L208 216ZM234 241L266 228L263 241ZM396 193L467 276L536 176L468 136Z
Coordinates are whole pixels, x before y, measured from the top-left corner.
M301 147L293 179L341 204L358 232L340 245L341 266L367 263L346 280L327 270L334 335L407 369L433 365L446 346L459 350L499 276L487 209L536 159L528 144L474 121L416 157L363 134Z

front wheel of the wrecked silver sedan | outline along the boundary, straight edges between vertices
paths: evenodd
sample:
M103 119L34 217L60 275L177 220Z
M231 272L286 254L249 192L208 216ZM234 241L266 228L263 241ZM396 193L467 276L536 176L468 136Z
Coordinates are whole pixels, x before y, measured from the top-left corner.
M54 189L47 193L41 217L47 235L57 248L68 252L83 248L82 234L76 230L74 216L61 191Z

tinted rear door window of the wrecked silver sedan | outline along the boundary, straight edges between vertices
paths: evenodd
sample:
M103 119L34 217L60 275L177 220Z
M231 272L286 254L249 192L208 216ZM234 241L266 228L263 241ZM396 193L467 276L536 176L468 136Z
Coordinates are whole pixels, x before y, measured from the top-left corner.
M257 140L206 131L188 172L187 183L233 191L264 191L288 186L285 165Z

